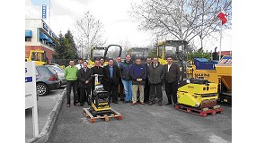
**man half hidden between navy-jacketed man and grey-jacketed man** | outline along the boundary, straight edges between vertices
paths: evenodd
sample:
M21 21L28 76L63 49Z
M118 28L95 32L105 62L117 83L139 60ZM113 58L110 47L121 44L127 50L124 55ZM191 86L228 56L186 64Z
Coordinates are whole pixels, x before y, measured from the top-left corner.
M151 57L147 57L146 58L146 63L145 63L145 67L146 67L146 71L148 71L149 66L152 64L152 59ZM148 83L148 77L146 74L146 84L145 84L145 88L144 88L144 101L146 104L148 104L149 102L149 90L150 90L150 85Z

